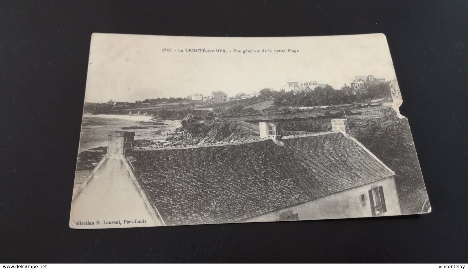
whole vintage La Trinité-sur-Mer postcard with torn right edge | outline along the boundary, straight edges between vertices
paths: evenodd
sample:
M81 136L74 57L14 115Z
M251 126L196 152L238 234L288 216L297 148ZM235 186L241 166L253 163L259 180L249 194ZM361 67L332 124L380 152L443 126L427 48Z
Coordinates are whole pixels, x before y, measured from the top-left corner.
M428 213L383 34L93 34L70 227Z

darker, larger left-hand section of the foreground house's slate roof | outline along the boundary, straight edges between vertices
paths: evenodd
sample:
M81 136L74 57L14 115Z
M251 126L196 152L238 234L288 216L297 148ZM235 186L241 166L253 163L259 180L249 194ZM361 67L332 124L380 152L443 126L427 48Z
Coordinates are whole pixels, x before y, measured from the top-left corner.
M228 223L310 200L286 154L268 139L136 151L132 166L166 225Z

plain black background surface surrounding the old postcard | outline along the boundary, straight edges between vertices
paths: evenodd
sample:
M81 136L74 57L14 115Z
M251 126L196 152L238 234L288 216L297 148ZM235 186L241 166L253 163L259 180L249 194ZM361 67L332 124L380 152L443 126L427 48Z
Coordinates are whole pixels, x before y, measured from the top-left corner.
M68 228L93 32L384 33L432 213ZM467 1L1 1L0 262L468 262L467 33Z

